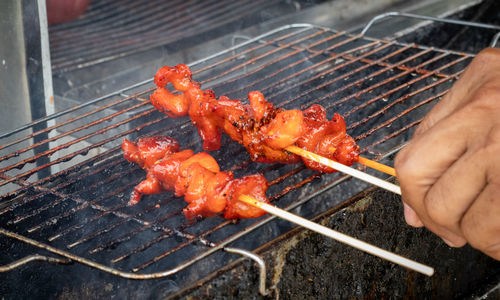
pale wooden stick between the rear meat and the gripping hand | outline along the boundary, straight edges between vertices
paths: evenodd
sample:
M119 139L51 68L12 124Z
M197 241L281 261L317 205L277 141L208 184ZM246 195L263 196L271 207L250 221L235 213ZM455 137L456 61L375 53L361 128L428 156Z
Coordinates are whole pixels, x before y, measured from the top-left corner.
M361 172L359 170L356 170L354 168L348 167L346 165L343 165L341 163L338 163L336 161L333 161L331 159L328 159L328 158L323 157L321 155L318 155L316 153L312 153L310 151L304 150L304 149L299 148L297 146L288 146L285 148L285 150L292 152L292 153L295 153L299 156L305 157L307 159L313 160L313 161L318 162L320 164L323 164L325 166L331 167L337 171L340 171L340 172L345 173L347 175L351 175L352 177L361 179L363 181L366 181L368 183L371 183L373 185L381 187L381 188L388 190L390 192L393 192L395 194L401 195L401 188L395 184L392 184L388 181L382 180L382 179L377 178L375 176L372 176L370 174L366 174L366 173Z

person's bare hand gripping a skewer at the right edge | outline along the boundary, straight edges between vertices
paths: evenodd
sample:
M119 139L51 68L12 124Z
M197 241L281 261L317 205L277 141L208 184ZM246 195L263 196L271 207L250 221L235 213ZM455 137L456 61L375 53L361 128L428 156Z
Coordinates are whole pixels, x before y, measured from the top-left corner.
M500 49L472 60L395 169L409 225L500 260Z

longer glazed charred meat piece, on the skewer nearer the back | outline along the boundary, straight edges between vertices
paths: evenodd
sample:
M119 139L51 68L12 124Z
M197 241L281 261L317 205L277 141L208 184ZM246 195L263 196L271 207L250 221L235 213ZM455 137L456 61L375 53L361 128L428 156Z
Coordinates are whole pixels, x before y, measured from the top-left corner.
M155 83L158 88L150 97L151 103L170 117L189 115L206 151L220 148L224 131L257 162L297 163L301 158L285 150L291 145L345 165L352 165L358 159L359 147L346 133L344 119L335 114L328 120L320 105L312 105L305 111L275 109L257 91L248 94L249 105L225 96L216 99L213 91L204 91L193 81L191 70L183 64L162 67L155 75ZM169 83L175 94L167 89ZM335 171L302 160L310 169Z

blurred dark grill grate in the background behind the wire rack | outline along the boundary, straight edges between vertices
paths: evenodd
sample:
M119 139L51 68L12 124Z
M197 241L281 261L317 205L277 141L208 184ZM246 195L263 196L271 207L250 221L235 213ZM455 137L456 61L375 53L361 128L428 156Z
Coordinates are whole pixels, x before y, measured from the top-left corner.
M71 71L174 42L182 49L189 40L214 38L248 26L249 20L265 19L263 11L282 15L295 9L276 0L92 1L82 18L50 26L52 66L55 72Z

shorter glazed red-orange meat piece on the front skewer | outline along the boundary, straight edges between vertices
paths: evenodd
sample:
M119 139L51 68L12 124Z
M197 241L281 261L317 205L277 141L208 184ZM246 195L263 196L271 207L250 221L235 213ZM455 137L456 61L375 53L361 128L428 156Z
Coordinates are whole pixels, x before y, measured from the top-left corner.
M265 214L238 201L245 194L269 203L267 180L262 175L234 179L232 172L220 171L210 154L179 151L177 141L164 136L141 138L137 143L124 139L122 149L128 161L147 171L146 179L134 188L130 205L137 204L144 194L173 191L188 202L183 212L189 219L216 214L228 219L257 218Z

